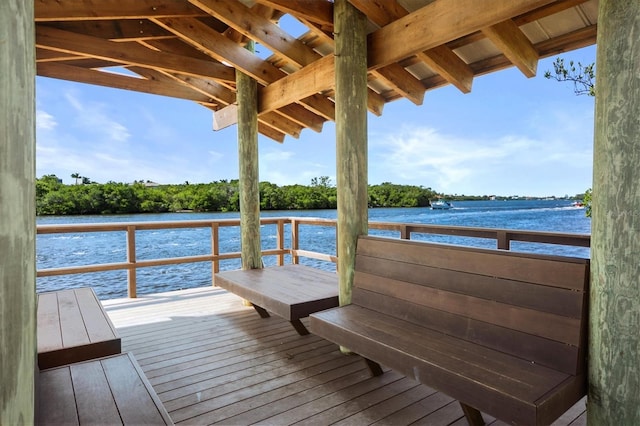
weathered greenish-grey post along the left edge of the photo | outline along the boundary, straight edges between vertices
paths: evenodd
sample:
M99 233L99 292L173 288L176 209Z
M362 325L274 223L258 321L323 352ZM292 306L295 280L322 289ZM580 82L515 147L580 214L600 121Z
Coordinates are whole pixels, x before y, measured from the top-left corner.
M0 2L0 424L34 423L33 2Z

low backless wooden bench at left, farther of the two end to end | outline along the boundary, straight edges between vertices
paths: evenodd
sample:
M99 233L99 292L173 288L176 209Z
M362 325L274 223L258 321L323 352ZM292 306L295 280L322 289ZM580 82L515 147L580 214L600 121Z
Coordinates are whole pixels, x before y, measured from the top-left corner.
M119 354L121 342L93 289L38 294L40 369Z

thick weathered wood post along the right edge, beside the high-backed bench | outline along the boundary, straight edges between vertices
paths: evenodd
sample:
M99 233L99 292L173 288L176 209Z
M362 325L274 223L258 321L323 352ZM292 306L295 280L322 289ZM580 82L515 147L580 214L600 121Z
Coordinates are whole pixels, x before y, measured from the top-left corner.
M640 2L600 0L587 417L640 424Z

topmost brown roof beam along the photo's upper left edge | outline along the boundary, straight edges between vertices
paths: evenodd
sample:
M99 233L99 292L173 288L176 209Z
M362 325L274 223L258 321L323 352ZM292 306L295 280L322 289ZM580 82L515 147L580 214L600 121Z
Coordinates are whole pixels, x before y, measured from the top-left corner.
M184 1L38 0L34 5L36 22L206 16Z

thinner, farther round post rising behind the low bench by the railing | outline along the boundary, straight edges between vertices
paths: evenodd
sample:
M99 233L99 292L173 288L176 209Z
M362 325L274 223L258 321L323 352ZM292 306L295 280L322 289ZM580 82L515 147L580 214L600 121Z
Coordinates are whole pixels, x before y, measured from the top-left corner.
M258 174L258 87L254 79L240 71L236 71L236 86L242 269L257 269L262 268Z

